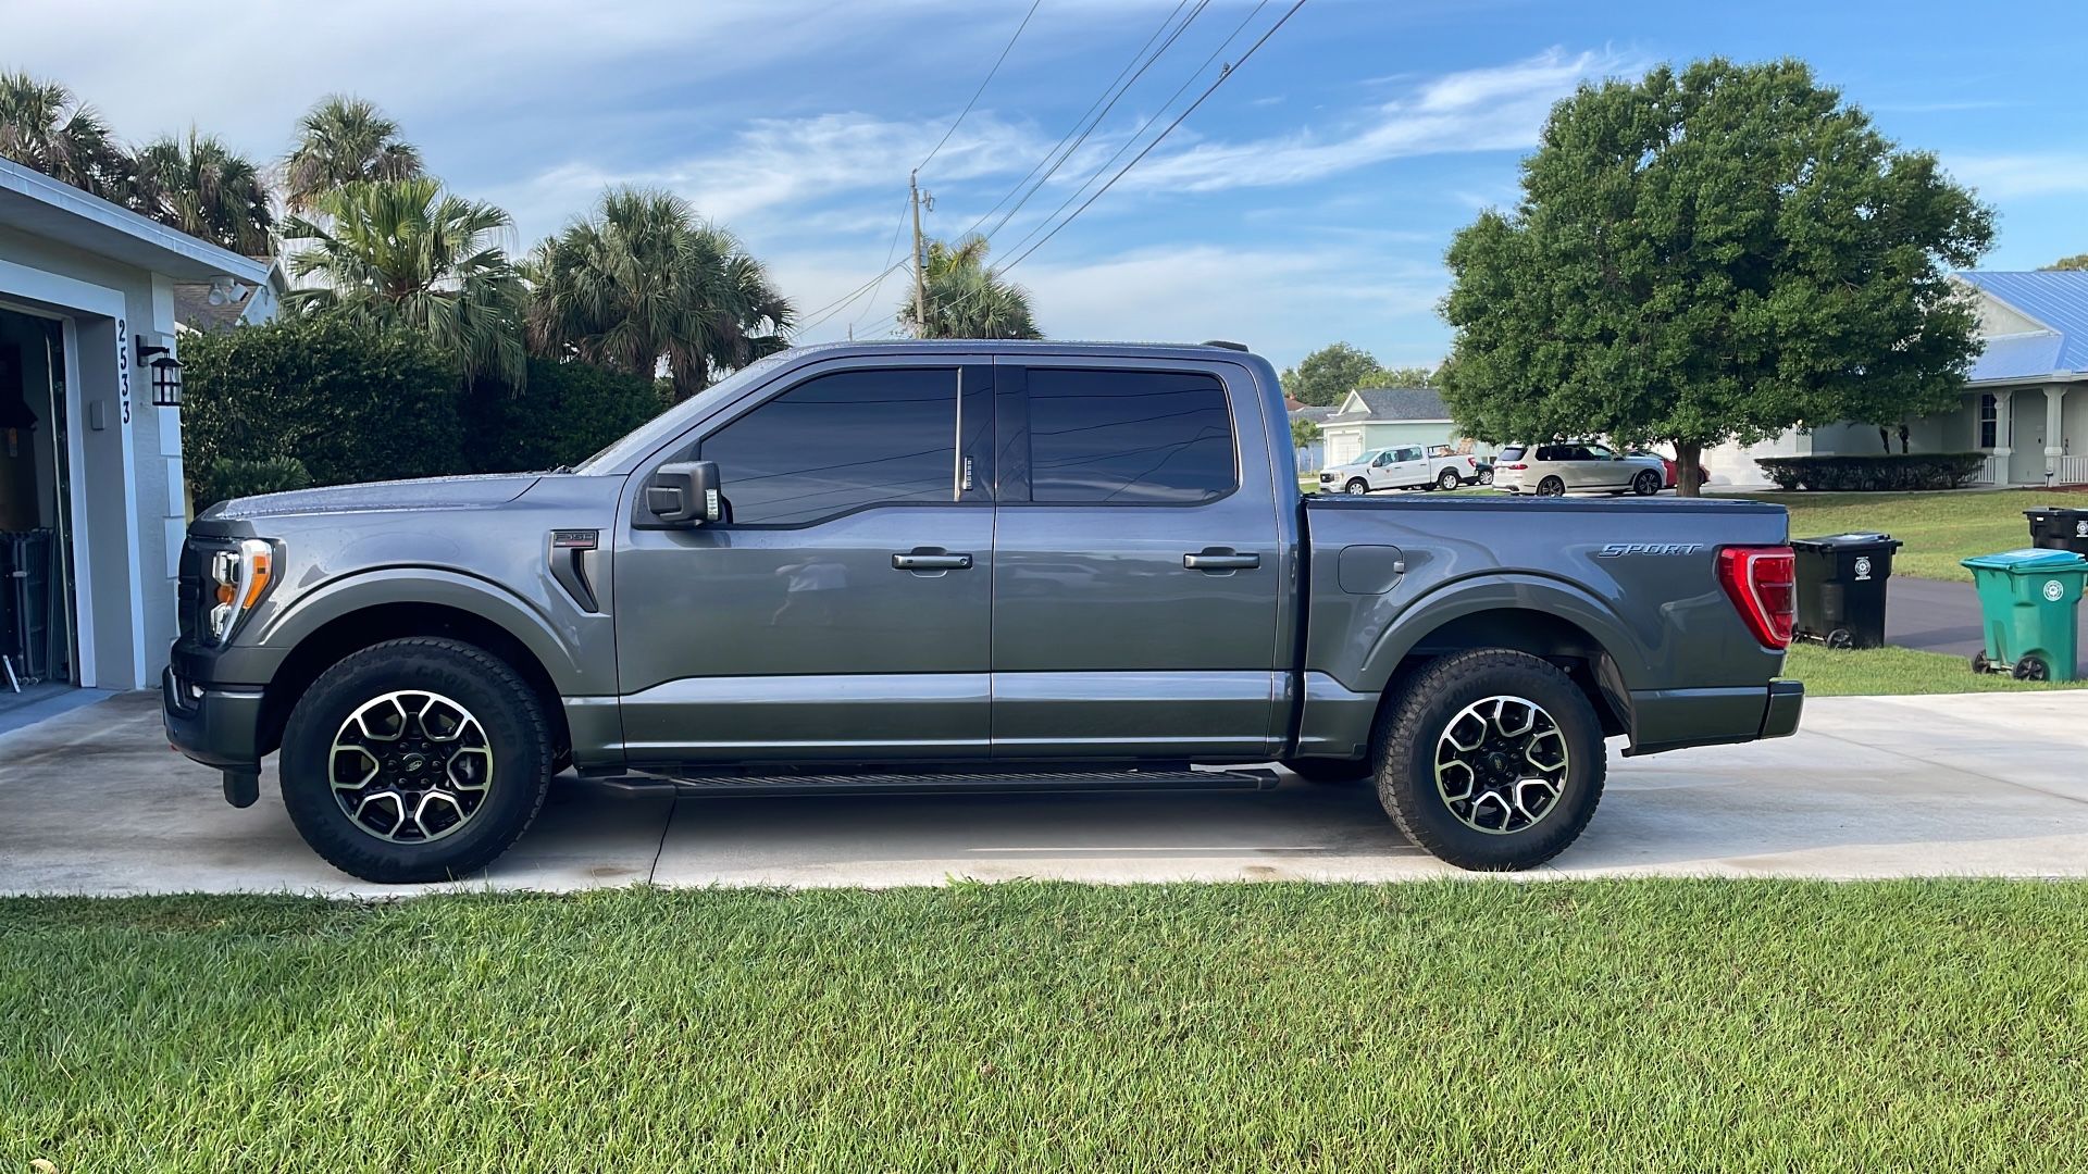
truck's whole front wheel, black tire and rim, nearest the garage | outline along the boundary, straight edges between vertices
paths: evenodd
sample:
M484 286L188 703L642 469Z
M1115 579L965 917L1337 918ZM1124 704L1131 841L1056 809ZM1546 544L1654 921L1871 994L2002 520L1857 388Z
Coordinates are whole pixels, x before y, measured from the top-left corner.
M290 710L282 802L336 869L441 882L505 852L543 808L551 729L526 681L482 648L388 639L342 658Z

